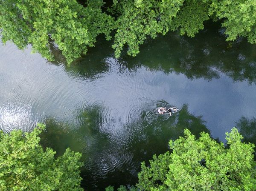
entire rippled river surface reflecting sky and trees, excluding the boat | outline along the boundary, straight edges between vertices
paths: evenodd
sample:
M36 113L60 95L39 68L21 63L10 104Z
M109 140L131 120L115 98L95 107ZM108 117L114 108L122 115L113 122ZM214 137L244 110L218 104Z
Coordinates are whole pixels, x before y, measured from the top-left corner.
M194 38L177 32L148 39L137 57L113 56L99 38L71 66L58 51L47 62L31 48L0 45L0 129L31 131L46 123L41 144L57 156L82 153L85 190L137 182L140 163L168 151L188 128L225 142L236 126L256 143L256 46L207 23ZM163 105L177 114L151 112Z

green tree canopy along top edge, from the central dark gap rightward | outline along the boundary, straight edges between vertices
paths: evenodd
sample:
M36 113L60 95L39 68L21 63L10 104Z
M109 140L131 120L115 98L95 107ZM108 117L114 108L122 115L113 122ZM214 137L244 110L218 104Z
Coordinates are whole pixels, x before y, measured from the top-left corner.
M118 15L113 48L119 57L124 44L135 56L147 36L180 30L194 37L204 29L204 21L223 20L227 40L247 37L256 43L255 0L119 0L112 12Z

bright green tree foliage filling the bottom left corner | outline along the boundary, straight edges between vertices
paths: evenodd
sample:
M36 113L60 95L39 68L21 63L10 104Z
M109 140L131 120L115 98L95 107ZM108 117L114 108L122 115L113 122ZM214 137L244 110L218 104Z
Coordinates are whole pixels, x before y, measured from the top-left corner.
M0 191L82 191L80 153L67 149L55 159L55 151L38 144L39 124L31 133L0 132Z

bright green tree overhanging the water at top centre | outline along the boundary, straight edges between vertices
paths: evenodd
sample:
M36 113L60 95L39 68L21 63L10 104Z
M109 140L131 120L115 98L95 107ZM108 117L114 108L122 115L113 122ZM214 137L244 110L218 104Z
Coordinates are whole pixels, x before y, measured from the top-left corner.
M113 4L112 12L118 15L116 34L113 44L116 57L119 57L125 44L128 55L139 53L139 46L149 35L166 34L172 19L184 0L121 0Z

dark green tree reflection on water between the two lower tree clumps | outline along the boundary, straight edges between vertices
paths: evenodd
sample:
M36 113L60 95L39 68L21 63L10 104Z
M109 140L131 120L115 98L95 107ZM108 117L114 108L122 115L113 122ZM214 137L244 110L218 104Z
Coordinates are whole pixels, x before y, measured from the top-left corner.
M190 114L188 105L168 119L151 111L142 112L136 122L119 129L104 127L100 109L82 111L75 123L49 118L47 129L41 134L41 144L53 148L57 156L67 147L82 153L82 186L86 190L104 190L120 182L134 184L140 163L150 160L153 154L168 151L169 140L182 136L185 128L197 137L202 131L209 133L205 121Z

